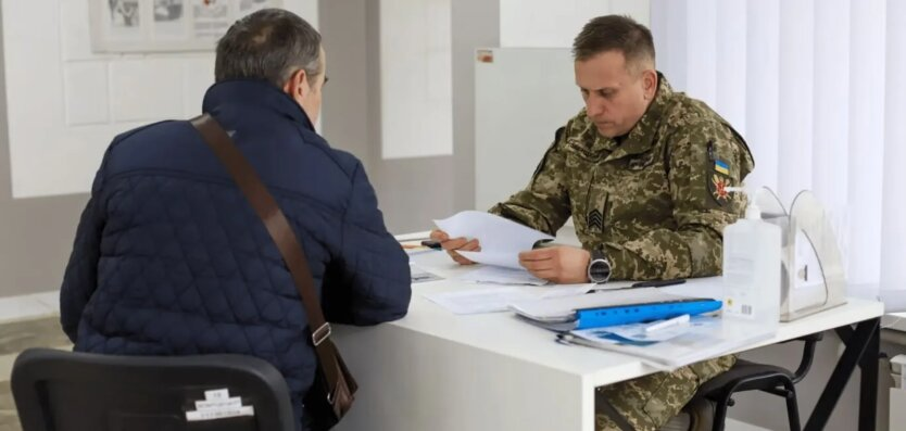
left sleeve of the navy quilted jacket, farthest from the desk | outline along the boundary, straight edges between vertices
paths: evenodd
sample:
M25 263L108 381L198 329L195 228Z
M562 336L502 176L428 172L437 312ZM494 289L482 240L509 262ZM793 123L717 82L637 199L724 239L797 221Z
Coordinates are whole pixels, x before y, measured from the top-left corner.
M101 232L104 227L104 215L100 208L100 191L103 186L104 162L95 177L91 186L91 197L76 229L73 252L63 276L60 288L60 322L63 331L75 343L78 334L78 322L95 288L98 286L98 261L100 258Z

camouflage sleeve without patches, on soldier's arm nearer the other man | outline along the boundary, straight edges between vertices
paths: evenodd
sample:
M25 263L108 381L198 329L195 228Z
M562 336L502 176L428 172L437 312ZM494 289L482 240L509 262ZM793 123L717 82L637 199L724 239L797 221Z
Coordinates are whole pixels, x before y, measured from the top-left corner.
M567 126L568 127L568 126ZM494 205L489 212L526 225L532 229L556 234L569 218L569 193L564 183L566 156L564 130L557 129L554 143L534 169L528 187Z

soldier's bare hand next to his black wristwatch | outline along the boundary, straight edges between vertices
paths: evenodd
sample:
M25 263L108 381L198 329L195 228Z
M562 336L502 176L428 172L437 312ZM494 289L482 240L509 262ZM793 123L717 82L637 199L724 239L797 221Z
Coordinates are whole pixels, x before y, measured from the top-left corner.
M591 254L575 246L551 246L519 253L519 265L532 276L557 284L586 283Z

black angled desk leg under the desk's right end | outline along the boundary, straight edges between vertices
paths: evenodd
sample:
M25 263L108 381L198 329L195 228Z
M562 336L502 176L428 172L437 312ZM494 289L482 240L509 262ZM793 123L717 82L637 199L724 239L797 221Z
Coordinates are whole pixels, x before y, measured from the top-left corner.
M861 367L861 386L859 397L859 431L874 431L874 411L878 405L878 355L880 354L880 325L881 319L874 318L860 321L855 330L844 327L840 328L841 340L846 344L843 356L836 363L821 397L808 422L805 431L817 431L825 429L830 419L833 407L843 395L843 390L855 371L856 366Z

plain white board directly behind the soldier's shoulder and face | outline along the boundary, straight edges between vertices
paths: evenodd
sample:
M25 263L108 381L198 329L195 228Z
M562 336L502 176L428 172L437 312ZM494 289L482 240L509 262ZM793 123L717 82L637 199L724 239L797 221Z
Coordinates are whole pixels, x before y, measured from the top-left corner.
M491 61L475 62L476 210L525 188L554 130L582 109L568 48L487 52Z

